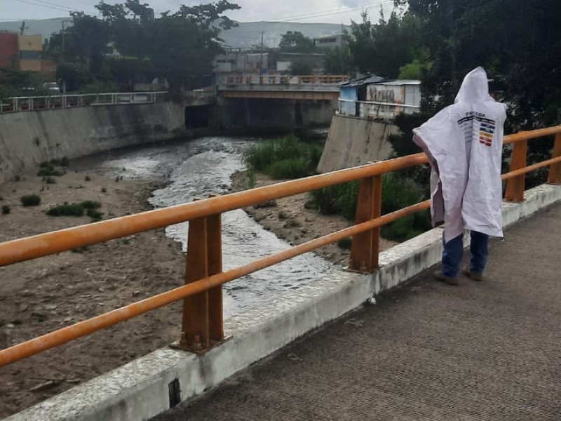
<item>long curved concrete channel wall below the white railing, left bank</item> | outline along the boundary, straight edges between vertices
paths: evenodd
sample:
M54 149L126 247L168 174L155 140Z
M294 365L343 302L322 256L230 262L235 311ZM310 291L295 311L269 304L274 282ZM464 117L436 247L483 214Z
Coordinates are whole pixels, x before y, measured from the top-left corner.
M0 182L50 159L168 140L184 132L172 102L0 114Z

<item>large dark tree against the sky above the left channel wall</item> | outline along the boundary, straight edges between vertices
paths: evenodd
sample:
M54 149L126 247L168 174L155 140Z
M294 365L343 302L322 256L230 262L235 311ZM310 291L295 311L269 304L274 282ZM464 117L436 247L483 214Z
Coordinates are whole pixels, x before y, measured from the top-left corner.
M102 19L73 13L74 25L50 40L50 53L69 62L86 65L95 81L113 81L111 69L119 69L119 79L133 83L135 77L161 76L170 92L179 97L184 89L201 86L212 72L212 60L222 52L220 32L236 25L224 15L240 8L227 0L198 6L181 6L175 13L154 18L154 11L139 0L124 4L101 2ZM62 48L65 39L65 48ZM115 65L105 57L109 42L128 58ZM130 77L123 74L130 69Z

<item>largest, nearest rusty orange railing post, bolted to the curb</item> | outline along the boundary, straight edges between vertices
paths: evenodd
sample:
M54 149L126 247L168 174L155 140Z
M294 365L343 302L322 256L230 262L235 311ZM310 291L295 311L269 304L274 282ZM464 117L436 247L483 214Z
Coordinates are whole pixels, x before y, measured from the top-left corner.
M185 283L222 272L221 215L189 222ZM222 286L191 295L183 302L180 347L204 352L224 340Z

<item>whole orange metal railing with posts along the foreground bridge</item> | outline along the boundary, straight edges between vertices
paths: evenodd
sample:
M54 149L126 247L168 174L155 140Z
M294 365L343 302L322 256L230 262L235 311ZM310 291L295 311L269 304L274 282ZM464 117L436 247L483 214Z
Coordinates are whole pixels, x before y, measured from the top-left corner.
M548 135L555 135L552 159L526 166L527 140ZM561 126L506 136L505 143L514 144L511 171L503 175L503 179L507 180L506 200L524 200L525 174L544 166L550 166L548 182L561 185ZM195 352L208 349L224 339L221 287L223 283L238 279L259 269L276 265L327 244L335 243L349 236L353 236L349 267L362 272L372 272L378 266L380 227L430 206L428 201L424 201L380 216L381 176L391 171L398 171L427 162L428 159L425 154L403 156L402 158L357 168L315 175L301 180L282 182L245 192L212 197L170 208L151 210L95 224L0 243L1 267L72 250L80 246L190 221L186 285L154 295L140 302L134 302L92 319L75 323L72 326L55 330L39 338L2 349L0 350L0 366L58 347L71 340L179 300L184 300L180 345L184 349ZM222 213L353 180L360 180L356 225L302 243L281 253L255 260L248 265L222 272L220 227L220 215Z

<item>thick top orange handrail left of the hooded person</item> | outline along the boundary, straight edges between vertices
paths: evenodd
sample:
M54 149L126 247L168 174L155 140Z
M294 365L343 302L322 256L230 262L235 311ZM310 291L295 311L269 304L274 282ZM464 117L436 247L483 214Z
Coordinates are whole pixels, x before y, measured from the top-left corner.
M212 197L193 203L149 210L135 215L6 241L0 243L0 267L61 253L62 251L90 244L119 239L123 236L146 232L151 229L175 225L180 222L202 218L206 215L215 215L229 210L245 208L272 199L310 192L311 190L337 185L342 182L360 180L361 178L372 177L426 162L428 160L425 154L403 156L402 158L335 171L333 173L314 175L300 180L280 182L276 185L259 187L246 190L245 192Z

